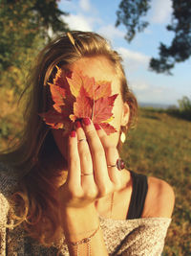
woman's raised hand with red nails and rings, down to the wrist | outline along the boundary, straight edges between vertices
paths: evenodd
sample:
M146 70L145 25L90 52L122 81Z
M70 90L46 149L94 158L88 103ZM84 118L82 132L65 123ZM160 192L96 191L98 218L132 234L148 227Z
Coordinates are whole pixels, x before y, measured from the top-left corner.
M117 167L107 167L116 164L118 158L109 136L102 128L96 129L90 119L83 119L79 126L78 122L76 132L72 131L75 136L69 137L69 173L59 189L61 204L72 208L86 207L112 194L120 188L121 180ZM78 141L82 138L86 140Z

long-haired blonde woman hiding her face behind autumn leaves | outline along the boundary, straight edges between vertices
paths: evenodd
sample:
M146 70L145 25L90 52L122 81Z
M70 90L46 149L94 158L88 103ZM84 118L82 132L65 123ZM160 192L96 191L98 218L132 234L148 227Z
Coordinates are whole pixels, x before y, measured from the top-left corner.
M119 158L137 101L117 52L95 33L62 35L28 90L22 139L0 156L0 254L159 255L174 193Z

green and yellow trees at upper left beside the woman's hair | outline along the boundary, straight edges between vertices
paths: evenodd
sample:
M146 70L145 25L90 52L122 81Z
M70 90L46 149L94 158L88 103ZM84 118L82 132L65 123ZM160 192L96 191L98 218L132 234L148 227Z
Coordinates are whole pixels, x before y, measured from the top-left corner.
M68 31L56 0L1 0L0 87L20 92L27 68L51 35Z

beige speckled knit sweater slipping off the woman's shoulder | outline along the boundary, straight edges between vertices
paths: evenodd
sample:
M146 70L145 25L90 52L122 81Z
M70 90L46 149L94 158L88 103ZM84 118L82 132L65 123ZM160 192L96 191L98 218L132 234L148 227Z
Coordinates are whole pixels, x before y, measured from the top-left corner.
M58 244L45 247L25 236L19 227L6 228L9 218L9 201L16 186L12 170L0 163L0 255L1 256L68 256L65 237ZM141 218L134 220L112 220L99 216L104 242L110 256L159 256L163 250L169 218Z

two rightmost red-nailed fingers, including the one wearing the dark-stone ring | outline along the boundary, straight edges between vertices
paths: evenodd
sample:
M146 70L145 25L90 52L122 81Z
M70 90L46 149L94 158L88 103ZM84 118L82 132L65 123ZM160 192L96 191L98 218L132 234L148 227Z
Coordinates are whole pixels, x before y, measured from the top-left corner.
M117 167L108 168L108 165L116 165L117 148L114 147L113 141L107 136L106 132L98 125L94 126L91 120L85 120L83 128L92 153L95 179L99 191L107 194L107 191L118 190L121 186L121 174Z

